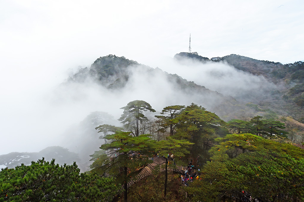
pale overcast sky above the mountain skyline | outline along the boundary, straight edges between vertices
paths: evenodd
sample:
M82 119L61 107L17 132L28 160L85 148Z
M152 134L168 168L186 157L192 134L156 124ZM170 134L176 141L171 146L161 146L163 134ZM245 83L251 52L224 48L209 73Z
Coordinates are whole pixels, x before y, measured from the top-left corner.
M37 104L42 97L100 56L125 56L155 68L164 58L188 52L191 33L192 52L204 57L302 61L303 5L302 0L1 0L2 141L34 131L34 119L26 120L38 116L37 108L45 110L47 105ZM48 127L56 126L39 130ZM16 151L8 147L0 154Z

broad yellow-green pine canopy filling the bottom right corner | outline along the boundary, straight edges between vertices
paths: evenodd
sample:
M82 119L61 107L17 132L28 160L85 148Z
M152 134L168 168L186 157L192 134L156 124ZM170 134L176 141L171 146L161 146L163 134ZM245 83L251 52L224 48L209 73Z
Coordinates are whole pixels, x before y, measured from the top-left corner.
M211 162L189 188L193 201L304 200L304 153L249 133L216 139Z

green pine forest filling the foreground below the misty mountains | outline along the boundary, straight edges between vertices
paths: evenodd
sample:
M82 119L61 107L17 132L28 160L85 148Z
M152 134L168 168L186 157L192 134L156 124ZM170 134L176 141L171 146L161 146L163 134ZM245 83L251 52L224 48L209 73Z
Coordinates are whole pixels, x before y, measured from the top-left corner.
M304 200L304 152L287 138L284 123L262 116L225 122L195 103L164 107L154 121L143 100L122 109L123 127L95 128L107 142L91 155L90 172L44 159L2 169L0 201ZM164 162L136 180L157 164L154 158Z

